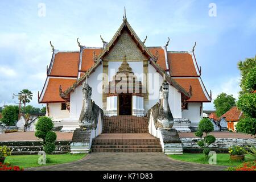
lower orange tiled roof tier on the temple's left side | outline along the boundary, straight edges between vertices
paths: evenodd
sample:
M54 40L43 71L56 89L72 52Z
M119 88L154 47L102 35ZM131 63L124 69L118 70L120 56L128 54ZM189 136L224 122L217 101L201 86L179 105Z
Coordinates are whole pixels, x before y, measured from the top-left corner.
M65 90L71 86L76 79L63 79L63 78L49 78L49 82L44 93L42 103L46 102L64 102L60 97L59 87L62 86L62 89Z

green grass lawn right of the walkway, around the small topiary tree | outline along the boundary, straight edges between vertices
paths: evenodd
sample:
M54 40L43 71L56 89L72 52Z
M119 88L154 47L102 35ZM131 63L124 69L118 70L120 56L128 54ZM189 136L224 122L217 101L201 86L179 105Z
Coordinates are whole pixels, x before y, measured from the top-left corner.
M201 163L201 164L209 164L208 161L204 160L204 154L190 154L184 153L180 155L168 155L172 159L182 160L186 162L192 163ZM245 155L246 156L246 155ZM245 158L245 161L246 160ZM238 166L242 162L235 162L229 159L229 154L217 154L217 165L221 166Z

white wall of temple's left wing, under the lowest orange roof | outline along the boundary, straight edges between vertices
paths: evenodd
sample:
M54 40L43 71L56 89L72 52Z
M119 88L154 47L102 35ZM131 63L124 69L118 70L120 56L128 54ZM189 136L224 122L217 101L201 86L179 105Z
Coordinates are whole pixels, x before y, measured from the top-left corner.
M49 117L53 119L69 118L69 111L61 110L61 103L49 103Z

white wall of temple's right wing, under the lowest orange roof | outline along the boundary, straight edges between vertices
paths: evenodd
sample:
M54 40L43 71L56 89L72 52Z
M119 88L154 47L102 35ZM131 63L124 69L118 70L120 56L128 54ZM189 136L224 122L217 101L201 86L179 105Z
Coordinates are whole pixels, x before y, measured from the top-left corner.
M188 118L191 121L190 126L197 127L201 118L203 118L203 113L200 115L200 107L200 102L188 102L188 110L182 111L182 118Z

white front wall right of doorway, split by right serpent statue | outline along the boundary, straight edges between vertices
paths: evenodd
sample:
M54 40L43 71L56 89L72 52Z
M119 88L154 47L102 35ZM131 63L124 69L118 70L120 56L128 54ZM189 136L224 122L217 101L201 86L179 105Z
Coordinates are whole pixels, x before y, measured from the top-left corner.
M159 89L162 85L163 77L156 72L151 64L148 65L148 104L144 104L147 112L152 106L159 102ZM169 106L174 118L181 118L181 93L174 86L169 86Z

